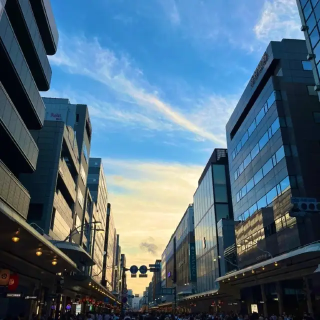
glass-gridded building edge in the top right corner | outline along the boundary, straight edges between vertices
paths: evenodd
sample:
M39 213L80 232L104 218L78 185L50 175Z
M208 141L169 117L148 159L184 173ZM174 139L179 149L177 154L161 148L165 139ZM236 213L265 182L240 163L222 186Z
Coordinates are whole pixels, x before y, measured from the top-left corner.
M320 94L320 4L318 0L296 0L299 15L301 19L301 31L304 33L306 40L307 54L304 60L310 63L303 62L308 70L312 70L315 91ZM320 97L320 95L319 95ZM320 121L320 120L319 120Z

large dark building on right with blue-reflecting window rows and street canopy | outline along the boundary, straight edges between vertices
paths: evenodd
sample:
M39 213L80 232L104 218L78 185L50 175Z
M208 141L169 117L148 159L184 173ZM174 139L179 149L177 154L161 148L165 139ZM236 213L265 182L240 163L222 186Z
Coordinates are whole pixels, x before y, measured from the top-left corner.
M271 41L226 124L240 269L218 281L265 315L320 311L320 217L291 210L293 197L320 199L320 103L307 54L304 40Z

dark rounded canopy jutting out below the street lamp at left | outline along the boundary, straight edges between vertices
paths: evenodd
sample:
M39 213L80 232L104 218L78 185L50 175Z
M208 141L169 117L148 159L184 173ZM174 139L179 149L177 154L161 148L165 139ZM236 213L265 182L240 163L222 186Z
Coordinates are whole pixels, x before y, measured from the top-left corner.
M59 242L51 240L51 242L73 260L76 265L91 266L95 264L90 254L79 244L69 241Z

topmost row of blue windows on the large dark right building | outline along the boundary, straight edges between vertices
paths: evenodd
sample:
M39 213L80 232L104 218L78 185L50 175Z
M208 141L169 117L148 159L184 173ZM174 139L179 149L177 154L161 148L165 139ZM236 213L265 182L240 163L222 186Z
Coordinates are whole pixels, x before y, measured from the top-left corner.
M248 140L249 136L252 134L252 132L255 130L257 125L260 123L266 112L269 110L271 105L274 103L275 100L280 100L280 91L273 91L270 96L267 98L266 102L262 106L259 113L256 115L256 117L253 119L252 123L249 125L248 129L245 131L243 136L241 137L239 143L232 151L232 160L235 158L235 156L239 153L244 143Z

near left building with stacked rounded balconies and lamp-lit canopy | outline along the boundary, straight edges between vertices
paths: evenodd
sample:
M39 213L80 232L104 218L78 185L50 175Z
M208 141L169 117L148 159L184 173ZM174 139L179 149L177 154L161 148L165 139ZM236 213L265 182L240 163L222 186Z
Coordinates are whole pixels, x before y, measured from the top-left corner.
M52 315L46 292L54 289L55 274L76 270L68 256L27 223L30 190L20 179L37 165L39 148L30 130L43 126L39 91L49 89L47 55L55 53L57 42L49 0L0 0L0 265L9 270L1 274L1 318L20 312L26 318L33 312ZM17 283L14 292L21 297L36 292L37 299L5 297L10 278Z

